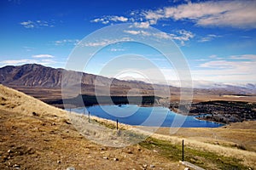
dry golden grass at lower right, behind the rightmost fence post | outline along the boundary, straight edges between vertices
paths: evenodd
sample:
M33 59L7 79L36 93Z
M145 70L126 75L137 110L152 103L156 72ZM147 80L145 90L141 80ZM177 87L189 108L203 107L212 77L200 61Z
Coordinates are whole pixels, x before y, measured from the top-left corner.
M248 167L256 167L256 122L234 123L218 128L160 127L152 137L185 144L198 150L208 150L222 156L243 160ZM170 134L170 130L177 133Z

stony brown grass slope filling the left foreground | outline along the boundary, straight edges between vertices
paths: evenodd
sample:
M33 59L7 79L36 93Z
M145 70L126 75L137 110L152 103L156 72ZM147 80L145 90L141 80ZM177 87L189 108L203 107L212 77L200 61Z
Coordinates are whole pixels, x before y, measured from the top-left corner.
M120 149L94 144L73 128L65 111L3 85L0 136L0 169L184 168L137 144Z

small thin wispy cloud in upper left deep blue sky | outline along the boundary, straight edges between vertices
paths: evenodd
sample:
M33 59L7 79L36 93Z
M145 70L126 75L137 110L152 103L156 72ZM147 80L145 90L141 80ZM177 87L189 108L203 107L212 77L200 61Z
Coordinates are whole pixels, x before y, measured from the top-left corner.
M42 28L42 27L54 27L53 20L45 21L45 20L27 20L20 22L21 26L25 28Z

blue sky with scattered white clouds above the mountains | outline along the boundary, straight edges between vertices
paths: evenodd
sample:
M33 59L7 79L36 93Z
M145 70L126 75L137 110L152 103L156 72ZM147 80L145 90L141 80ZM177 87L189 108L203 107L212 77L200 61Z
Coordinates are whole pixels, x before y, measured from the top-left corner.
M84 37L106 26L131 24L125 35L172 40L186 59L193 80L256 83L255 16L255 0L2 0L0 66L37 63L66 68ZM151 27L161 31L160 36L148 33ZM108 45L115 38L108 37L86 44L102 50L83 71L102 74L102 68L117 56L137 54L152 61L166 79L176 79L175 68L159 51L136 42ZM131 76L136 77L129 72L122 75Z

